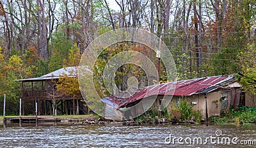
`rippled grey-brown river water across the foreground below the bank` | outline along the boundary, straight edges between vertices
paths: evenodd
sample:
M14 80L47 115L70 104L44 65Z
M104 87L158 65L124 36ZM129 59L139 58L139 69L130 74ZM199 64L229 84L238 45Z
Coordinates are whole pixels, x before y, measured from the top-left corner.
M2 123L0 147L256 147L256 125Z

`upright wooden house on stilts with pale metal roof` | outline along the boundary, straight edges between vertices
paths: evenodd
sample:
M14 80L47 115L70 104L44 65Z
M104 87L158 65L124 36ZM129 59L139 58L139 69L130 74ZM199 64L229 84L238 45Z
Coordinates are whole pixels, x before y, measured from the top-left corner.
M56 83L63 75L77 77L77 67L61 68L37 78L24 78L22 82L22 115L77 115L88 114L88 107L82 96L72 97L56 89Z

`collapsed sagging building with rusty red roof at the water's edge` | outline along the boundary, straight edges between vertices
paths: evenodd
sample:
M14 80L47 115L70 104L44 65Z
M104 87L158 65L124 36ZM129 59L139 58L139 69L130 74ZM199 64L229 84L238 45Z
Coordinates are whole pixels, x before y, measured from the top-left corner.
M240 96L241 85L234 75L220 75L150 85L135 92L129 98L109 96L102 98L102 101L108 110L105 117L129 119L150 107L159 110L164 104L165 106L169 104L168 108L170 108L171 103L177 105L180 100L186 99L193 104L194 110L200 110L202 120L207 120L212 115L220 115L221 111L228 112L230 106L245 105L245 98ZM131 107L130 110L122 111L129 107Z

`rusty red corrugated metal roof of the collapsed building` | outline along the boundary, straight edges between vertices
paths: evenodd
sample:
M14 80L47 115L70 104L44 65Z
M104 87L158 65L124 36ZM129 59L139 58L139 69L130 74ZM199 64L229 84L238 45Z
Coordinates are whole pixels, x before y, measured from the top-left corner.
M166 84L151 85L145 87L138 93L134 94L130 98L116 98L109 96L108 101L103 98L102 101L110 103L116 108L122 108L134 101L141 100L148 96L154 95L173 95L173 96L191 96L193 94L205 94L214 91L221 87L223 84L236 81L233 75L221 75L214 77L195 78L190 80L181 80L178 82L170 82ZM175 91L173 93L173 87ZM118 101L116 101L118 100Z

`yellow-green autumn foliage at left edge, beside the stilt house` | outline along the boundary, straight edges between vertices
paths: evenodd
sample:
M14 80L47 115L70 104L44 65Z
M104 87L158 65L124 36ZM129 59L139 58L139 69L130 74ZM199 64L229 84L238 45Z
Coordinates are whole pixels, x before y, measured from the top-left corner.
M29 47L22 56L13 54L4 58L0 51L0 98L6 94L6 115L19 114L19 99L21 98L21 84L17 79L37 75L44 70L39 64L42 61L36 56L35 48ZM45 67L45 63L43 63ZM38 67L36 67L38 66ZM43 72L42 72L43 73ZM0 111L0 114L3 110Z

